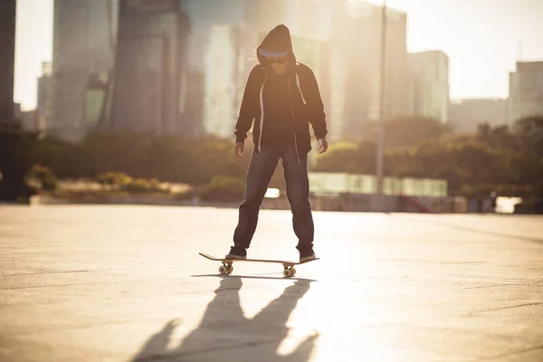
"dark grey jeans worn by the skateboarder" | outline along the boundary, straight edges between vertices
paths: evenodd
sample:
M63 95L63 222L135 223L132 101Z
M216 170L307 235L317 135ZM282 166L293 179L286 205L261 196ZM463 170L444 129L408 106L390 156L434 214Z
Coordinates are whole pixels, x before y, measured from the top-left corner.
M299 163L294 147L262 147L260 154L252 152L251 163L245 178L245 192L243 203L240 205L239 221L233 233L235 245L249 248L258 223L262 199L280 158L287 186L287 198L291 203L292 227L299 241L297 248L298 250L312 249L314 225L310 206L308 155L300 155Z

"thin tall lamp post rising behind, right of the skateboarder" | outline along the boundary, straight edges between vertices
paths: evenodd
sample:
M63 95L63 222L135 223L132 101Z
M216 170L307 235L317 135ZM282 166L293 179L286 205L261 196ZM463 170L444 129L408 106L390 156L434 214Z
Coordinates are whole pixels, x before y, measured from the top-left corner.
M379 127L377 136L376 152L376 178L377 195L383 195L383 143L385 140L385 97L386 97L386 0L383 0L383 9L381 14L381 80L379 81ZM382 202L380 203L382 204ZM381 205L383 206L383 205Z

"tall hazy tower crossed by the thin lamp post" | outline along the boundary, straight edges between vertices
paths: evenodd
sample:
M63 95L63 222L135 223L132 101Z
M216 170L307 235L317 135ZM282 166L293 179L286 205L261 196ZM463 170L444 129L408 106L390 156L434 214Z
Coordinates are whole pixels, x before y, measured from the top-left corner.
M385 97L380 98L382 7L334 2L329 37L329 134L331 139L361 138L365 125L406 114L407 15L386 11Z

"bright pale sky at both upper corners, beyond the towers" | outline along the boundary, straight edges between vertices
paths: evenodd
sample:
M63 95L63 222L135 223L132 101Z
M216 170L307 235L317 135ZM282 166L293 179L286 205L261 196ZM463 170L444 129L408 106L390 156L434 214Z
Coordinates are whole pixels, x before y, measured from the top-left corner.
M543 0L387 0L387 5L407 13L408 52L447 54L451 99L506 98L519 55L543 60ZM25 110L35 107L42 62L52 59L52 6L53 0L17 0L14 100Z

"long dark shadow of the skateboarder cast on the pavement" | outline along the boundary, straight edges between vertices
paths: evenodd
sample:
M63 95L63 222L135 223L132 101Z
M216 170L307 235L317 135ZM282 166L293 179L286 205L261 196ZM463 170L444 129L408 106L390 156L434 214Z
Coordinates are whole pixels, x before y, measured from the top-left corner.
M239 295L242 278L223 277L195 330L177 346L168 347L176 329L176 319L170 320L148 339L132 361L308 361L319 337L316 333L288 355L279 355L277 349L289 333L286 323L291 312L310 290L310 282L297 279L279 298L247 319Z

